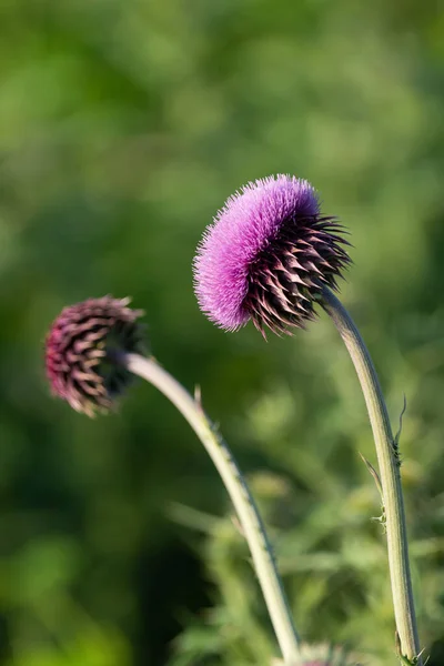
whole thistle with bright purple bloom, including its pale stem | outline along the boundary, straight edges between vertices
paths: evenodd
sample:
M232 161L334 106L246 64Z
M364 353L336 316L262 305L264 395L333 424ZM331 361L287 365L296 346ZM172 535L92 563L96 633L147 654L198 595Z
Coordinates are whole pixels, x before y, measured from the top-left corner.
M321 213L315 190L289 175L245 185L216 213L198 246L194 287L201 310L225 331L250 320L265 335L291 335L320 304L355 366L373 430L383 493L398 657L422 664L414 610L400 454L369 351L336 295L350 264L344 230Z

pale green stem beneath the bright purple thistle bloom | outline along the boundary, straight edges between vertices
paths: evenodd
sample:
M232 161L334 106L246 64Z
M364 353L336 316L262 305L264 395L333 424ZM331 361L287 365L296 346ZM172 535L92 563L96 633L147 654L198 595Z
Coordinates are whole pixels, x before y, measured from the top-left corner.
M322 304L332 317L353 361L372 425L383 491L389 568L396 632L401 644L400 656L421 666L397 443L393 438L375 367L352 317L327 287L323 289Z

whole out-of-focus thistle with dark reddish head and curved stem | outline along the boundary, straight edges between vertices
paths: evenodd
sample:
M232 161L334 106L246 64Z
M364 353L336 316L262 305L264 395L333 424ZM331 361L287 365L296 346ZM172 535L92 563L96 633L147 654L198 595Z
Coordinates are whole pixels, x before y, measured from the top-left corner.
M142 355L142 311L129 299L90 299L65 307L47 337L47 375L54 395L93 416L115 406L132 375L150 382L182 413L212 458L238 513L286 666L300 666L300 639L271 544L245 480L226 443L192 397L152 357Z

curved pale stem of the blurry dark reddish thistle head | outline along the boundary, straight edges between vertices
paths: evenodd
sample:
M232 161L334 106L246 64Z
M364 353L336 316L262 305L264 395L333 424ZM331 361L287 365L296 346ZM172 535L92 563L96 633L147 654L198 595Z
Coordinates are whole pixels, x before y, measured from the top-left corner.
M205 415L200 401L193 398L153 357L119 354L114 362L159 389L182 413L206 448L241 522L284 663L287 666L294 665L300 654L300 638L278 574L272 546L246 482L228 445Z

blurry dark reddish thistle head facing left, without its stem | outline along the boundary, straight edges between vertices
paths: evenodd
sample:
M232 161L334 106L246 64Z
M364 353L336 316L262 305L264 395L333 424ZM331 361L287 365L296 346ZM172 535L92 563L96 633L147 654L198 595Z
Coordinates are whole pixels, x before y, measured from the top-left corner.
M143 312L128 307L130 299L89 299L65 307L46 342L47 376L52 393L78 412L93 416L109 410L131 380L112 363L112 352L142 352Z

